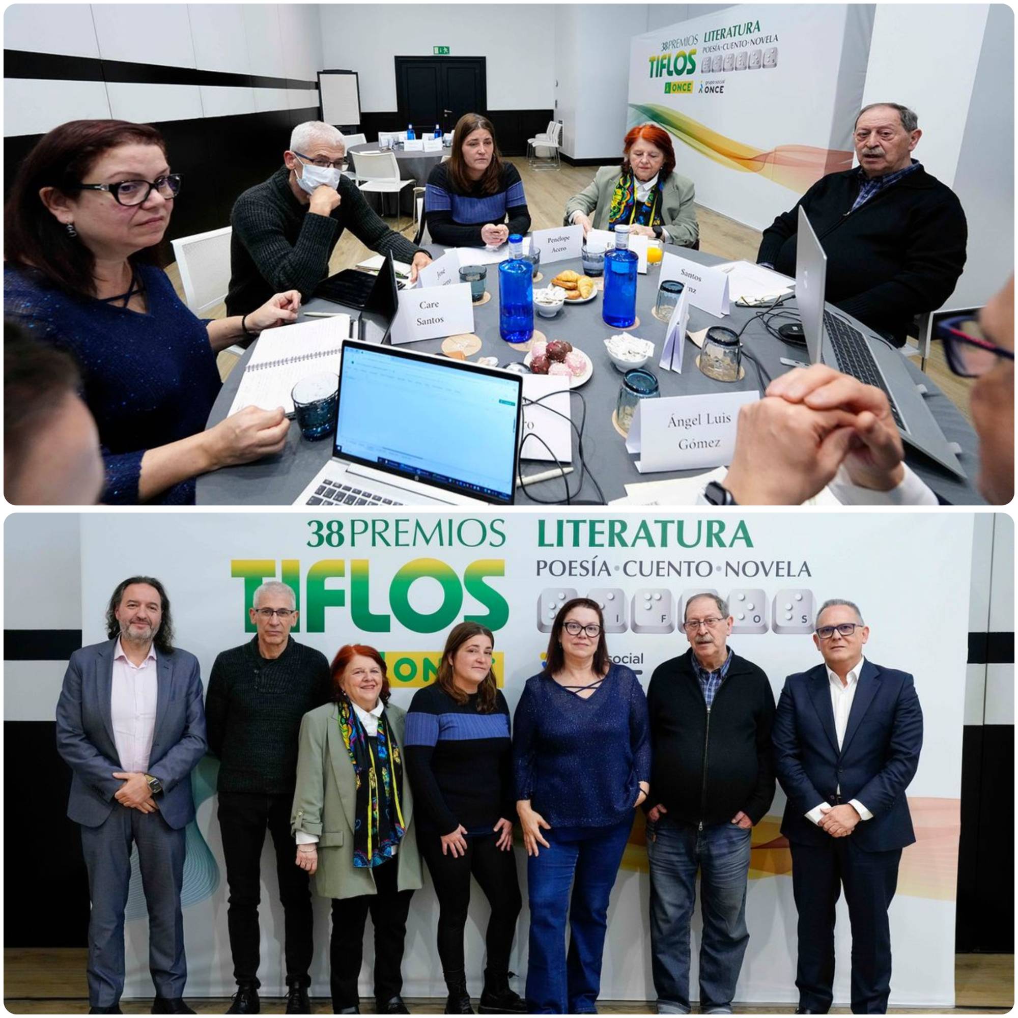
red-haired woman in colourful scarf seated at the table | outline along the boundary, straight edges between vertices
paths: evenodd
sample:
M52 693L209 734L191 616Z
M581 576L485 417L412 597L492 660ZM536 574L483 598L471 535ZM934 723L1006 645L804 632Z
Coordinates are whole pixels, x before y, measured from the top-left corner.
M566 203L567 226L614 230L629 226L636 236L693 247L699 239L693 182L675 172L668 131L639 124L625 136L622 168L603 166L593 180Z

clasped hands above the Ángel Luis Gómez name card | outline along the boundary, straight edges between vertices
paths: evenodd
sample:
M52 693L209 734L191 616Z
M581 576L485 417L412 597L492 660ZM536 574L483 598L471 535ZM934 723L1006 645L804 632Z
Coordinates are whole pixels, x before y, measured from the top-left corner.
M813 364L742 407L724 484L740 505L798 505L844 465L854 485L886 492L901 484L904 456L887 396Z

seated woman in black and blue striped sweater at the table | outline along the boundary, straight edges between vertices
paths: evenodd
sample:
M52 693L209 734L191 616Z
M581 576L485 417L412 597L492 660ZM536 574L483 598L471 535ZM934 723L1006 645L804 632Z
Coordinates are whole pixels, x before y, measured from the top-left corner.
M452 155L428 177L425 219L432 240L446 247L497 247L510 233L530 229L523 181L505 163L495 127L464 113L452 135Z

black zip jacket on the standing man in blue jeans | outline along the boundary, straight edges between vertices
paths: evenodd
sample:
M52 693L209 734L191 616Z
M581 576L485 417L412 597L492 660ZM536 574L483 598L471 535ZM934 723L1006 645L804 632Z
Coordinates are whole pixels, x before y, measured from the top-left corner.
M753 824L774 799L774 693L764 671L732 654L710 715L692 648L659 665L646 691L651 794L687 824L726 824L741 809ZM710 721L710 723L709 723Z

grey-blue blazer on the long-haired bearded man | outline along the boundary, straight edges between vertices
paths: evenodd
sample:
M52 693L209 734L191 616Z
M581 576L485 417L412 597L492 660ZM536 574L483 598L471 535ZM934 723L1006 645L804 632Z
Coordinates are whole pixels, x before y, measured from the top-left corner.
M110 697L115 639L75 651L67 663L57 701L57 751L71 769L67 815L84 827L99 827L110 815L123 771L113 739ZM197 658L186 651L156 652L156 731L148 773L163 791L159 811L174 829L194 818L190 773L205 755L205 708Z

